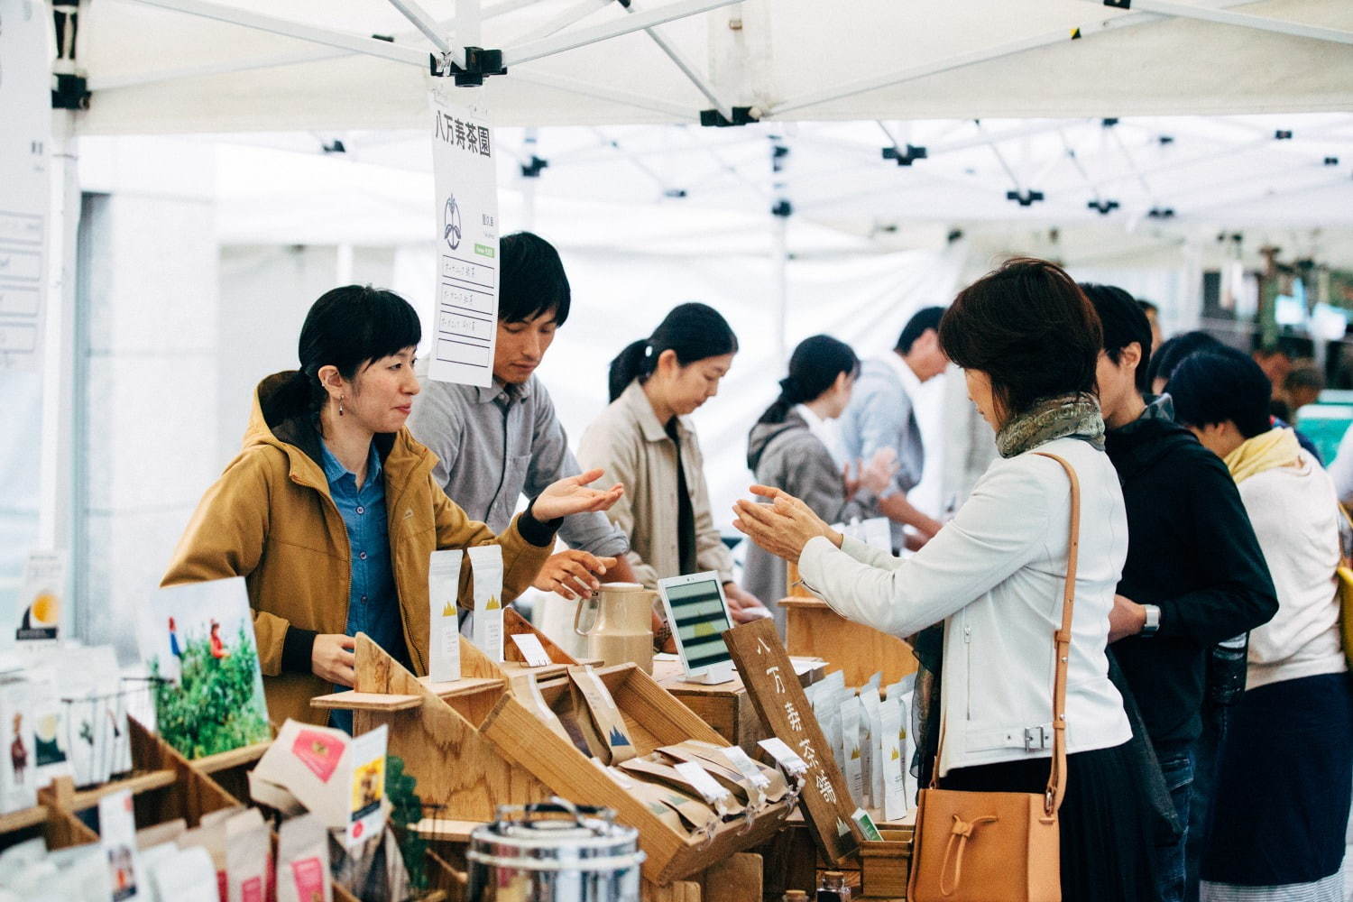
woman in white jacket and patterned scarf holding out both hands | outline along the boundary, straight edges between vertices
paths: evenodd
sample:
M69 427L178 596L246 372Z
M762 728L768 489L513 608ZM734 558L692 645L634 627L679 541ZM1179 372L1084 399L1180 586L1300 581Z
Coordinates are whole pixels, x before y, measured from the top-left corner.
M1128 537L1093 395L1099 316L1058 266L1012 260L958 295L939 338L996 429L1001 457L935 538L898 560L842 537L801 500L762 485L752 492L773 503L739 502L735 526L797 561L804 584L850 619L900 637L943 622L942 663L927 664L942 684L939 786L1042 792L1072 503L1066 472L1045 454L1066 460L1080 480L1081 517L1059 811L1062 899L1155 898L1149 813L1131 775L1131 728L1105 655Z

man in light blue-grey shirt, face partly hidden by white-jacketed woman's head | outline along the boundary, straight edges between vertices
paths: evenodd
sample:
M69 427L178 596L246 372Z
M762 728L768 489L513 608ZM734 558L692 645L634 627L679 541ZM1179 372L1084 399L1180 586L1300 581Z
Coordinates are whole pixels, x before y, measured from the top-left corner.
M942 523L907 500L907 492L921 481L925 449L916 423L913 394L921 383L939 376L948 358L939 346L939 319L943 307L917 311L897 346L877 360L861 365L850 406L840 418L840 437L846 460L873 460L882 448L897 456L893 484L878 495L875 508L893 521L893 546L909 544L919 548L939 531ZM908 542L904 531L913 527L920 537Z

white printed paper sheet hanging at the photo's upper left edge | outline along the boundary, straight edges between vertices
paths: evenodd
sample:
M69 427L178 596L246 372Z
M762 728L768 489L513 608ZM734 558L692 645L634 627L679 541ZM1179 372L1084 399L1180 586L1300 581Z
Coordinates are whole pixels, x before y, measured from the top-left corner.
M43 4L0 0L0 371L42 361L51 69Z

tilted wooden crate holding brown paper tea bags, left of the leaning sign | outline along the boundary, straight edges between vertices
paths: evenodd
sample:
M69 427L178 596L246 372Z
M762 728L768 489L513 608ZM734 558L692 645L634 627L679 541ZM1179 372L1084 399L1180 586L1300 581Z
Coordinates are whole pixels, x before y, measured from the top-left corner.
M690 738L725 742L633 664L599 669L598 675L616 699L639 755ZM567 679L548 680L540 688L551 707L566 710L571 705ZM763 842L782 822L783 809L775 809L762 814L747 833L741 832L741 821L724 824L713 841L701 848L700 840L668 828L510 694L499 699L480 725L480 732L505 757L536 775L559 795L614 809L622 824L637 828L640 845L648 853L644 876L659 886L704 871L735 852Z

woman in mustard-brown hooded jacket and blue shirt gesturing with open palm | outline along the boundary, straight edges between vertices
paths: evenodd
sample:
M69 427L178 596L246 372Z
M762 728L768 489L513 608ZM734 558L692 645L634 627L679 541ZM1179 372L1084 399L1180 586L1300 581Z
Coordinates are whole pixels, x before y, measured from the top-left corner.
M325 722L310 699L353 684L359 632L428 672L432 552L501 545L510 600L549 557L563 517L603 511L624 491L589 488L602 473L594 469L551 484L501 534L471 521L433 479L437 457L405 427L421 337L417 312L392 292L322 295L300 330L300 369L258 384L244 448L164 576L165 586L245 577L277 723Z

